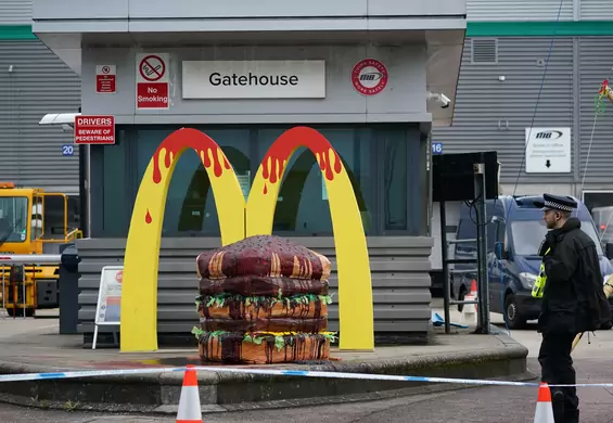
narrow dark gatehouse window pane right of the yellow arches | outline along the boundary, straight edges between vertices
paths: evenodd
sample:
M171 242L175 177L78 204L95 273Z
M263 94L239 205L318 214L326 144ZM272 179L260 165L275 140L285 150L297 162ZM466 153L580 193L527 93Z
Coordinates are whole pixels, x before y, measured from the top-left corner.
M385 230L407 230L408 143L405 130L382 130L384 142L384 226Z

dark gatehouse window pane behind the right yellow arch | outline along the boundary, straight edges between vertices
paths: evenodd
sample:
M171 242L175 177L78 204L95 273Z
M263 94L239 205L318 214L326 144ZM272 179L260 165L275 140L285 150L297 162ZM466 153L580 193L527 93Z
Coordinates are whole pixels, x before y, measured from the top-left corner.
M274 140L286 128L269 128L258 131L259 162ZM325 128L320 132L332 143L349 174L365 231L371 226L369 183L370 149L367 137L360 140L358 128ZM314 154L305 148L294 152L288 163L279 191L274 211L273 232L296 232L296 234L331 234L332 220L323 176Z

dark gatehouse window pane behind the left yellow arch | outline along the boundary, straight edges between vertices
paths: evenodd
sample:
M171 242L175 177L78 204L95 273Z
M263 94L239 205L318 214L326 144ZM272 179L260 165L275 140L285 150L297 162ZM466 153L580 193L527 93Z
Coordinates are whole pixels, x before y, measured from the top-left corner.
M201 128L199 128L201 129ZM239 181L248 193L251 185L250 131L246 129L201 129L213 138L228 156ZM138 136L138 180L169 130L140 130ZM208 175L197 154L188 150L177 162L166 200L162 233L206 233L219 235L217 206Z

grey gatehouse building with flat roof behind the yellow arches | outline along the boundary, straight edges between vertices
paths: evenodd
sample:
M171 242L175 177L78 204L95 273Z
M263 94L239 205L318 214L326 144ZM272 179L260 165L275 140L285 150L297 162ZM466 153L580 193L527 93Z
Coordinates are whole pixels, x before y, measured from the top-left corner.
M330 141L353 182L370 251L375 332L380 338L426 336L430 133L452 116L451 107L429 103L427 92L454 99L463 2L279 0L263 7L181 0L151 8L144 0L36 0L33 18L34 33L80 75L82 114L113 115L116 123L115 144L90 146L91 238L78 242L86 337L101 267L122 262L140 181L166 137L182 127L210 136L246 196L272 142L301 125ZM102 68L115 70L113 92L98 92ZM263 73L295 88L254 88ZM162 86L150 86L152 79ZM159 95L150 97L157 89ZM146 110L151 102L159 103L156 110ZM328 192L314 155L301 149L286 167L273 233L334 261ZM209 187L199 155L186 152L170 181L162 229L161 336L189 336L193 259L199 249L220 245ZM334 290L336 284L333 274ZM333 330L336 319L334 305Z

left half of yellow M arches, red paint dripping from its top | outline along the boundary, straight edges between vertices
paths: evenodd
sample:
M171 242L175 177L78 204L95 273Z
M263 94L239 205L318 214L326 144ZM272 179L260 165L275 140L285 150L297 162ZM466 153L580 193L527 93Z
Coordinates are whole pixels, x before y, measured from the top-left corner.
M177 161L193 149L204 165L224 245L244 239L245 201L226 155L213 139L183 128L168 136L144 171L135 202L122 286L122 351L157 349L157 270L166 196Z

